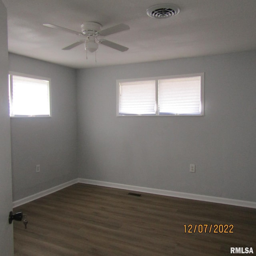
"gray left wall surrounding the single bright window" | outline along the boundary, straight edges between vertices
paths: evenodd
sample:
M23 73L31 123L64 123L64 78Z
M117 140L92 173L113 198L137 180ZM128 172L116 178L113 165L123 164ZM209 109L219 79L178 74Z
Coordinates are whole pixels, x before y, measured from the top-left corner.
M77 178L76 70L16 54L9 54L9 70L52 82L52 117L11 118L16 201Z

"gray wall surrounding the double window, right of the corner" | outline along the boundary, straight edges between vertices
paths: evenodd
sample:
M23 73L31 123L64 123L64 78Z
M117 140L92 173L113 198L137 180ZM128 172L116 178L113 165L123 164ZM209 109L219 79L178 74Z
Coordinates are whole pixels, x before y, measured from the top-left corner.
M204 116L116 117L116 79L199 72ZM255 202L255 81L256 52L78 70L78 176Z

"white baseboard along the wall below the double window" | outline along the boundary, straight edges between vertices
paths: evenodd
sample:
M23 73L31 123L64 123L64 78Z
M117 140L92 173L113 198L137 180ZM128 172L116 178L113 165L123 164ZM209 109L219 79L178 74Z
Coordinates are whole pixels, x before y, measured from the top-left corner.
M162 196L174 196L174 197L179 197L179 198L186 198L186 199L199 200L199 201L205 201L205 202L213 202L213 203L218 203L218 204L230 204L230 205L235 205L235 206L256 208L256 202L236 200L236 199L230 199L230 198L204 196L204 195L198 195L198 194L176 192L176 191L171 191L171 190L145 188L145 187L139 187L139 186L124 185L124 184L105 182L105 181L100 181L100 180L88 180L88 179L82 179L82 178L78 178L78 182L85 183L85 184L104 186L104 187L110 187L110 188L120 188L120 189L125 189L125 190L157 194L157 195L162 195Z

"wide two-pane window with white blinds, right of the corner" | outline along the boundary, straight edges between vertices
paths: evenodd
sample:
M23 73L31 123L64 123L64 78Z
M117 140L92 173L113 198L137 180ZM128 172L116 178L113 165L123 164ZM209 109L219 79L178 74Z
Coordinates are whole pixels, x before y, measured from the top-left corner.
M204 74L117 81L117 116L203 116Z

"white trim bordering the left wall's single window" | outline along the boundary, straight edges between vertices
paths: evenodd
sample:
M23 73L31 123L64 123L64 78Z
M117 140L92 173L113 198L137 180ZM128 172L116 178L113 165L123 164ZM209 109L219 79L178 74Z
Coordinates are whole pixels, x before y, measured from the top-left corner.
M9 71L9 75L10 76L23 76L23 77L26 77L26 78L34 78L34 79L40 79L40 80L46 80L46 81L49 81L49 101L50 101L50 115L36 115L36 116L11 116L10 115L10 118L40 118L40 117L52 117L52 81L51 81L51 78L48 78L48 77L43 77L43 76L34 76L34 75L30 75L30 74L24 74L24 73L19 73L19 72L13 72L13 71ZM10 87L12 86L12 80L10 81ZM10 90L10 88L9 88ZM12 90L9 91L9 97L10 97L10 102L12 101Z

